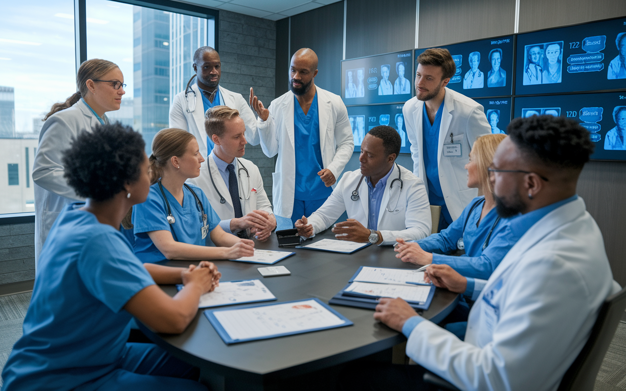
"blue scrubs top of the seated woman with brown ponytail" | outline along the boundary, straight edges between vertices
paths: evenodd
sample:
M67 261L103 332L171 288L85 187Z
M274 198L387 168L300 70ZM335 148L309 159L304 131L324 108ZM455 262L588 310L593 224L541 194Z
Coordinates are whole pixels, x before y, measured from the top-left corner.
M210 233L220 223L220 218L211 208L203 191L195 185L189 185L189 187L202 201L202 208L207 215L207 225ZM167 222L167 204L163 200L158 183L150 186L150 193L148 193L148 198L144 203L133 206L135 254L141 262L155 263L166 259L165 255L156 248L150 236L148 236L147 232L150 231L171 231L173 229L176 235L172 236L178 239L178 241L190 245L205 245L205 239L202 238L202 213L200 213L200 206L192 193L183 186L183 205L181 206L165 186L163 186L163 192L170 202L172 216L176 220L173 224Z

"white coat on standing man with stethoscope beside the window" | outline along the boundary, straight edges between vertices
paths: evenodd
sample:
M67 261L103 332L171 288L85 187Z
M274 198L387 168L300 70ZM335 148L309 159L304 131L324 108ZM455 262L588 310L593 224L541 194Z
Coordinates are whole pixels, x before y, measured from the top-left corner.
M185 91L176 94L170 108L170 128L185 129L192 133L200 146L202 156L207 156L211 151L207 151L207 131L204 129L204 104L202 103L202 93L197 83L192 83L190 88L196 93L195 110L187 113L187 102L185 101ZM252 109L248 106L248 102L242 94L233 93L228 89L218 86L220 90L220 103L239 111L239 116L245 123L245 140L250 145L259 144L259 136L257 135L257 118L252 113ZM222 99L223 98L223 99ZM187 94L189 104L193 103L193 93Z

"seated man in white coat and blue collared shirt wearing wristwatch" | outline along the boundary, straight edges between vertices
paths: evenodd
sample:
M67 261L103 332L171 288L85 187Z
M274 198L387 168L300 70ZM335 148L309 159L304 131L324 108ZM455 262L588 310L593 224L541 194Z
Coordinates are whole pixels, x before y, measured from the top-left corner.
M347 211L348 220L332 231L339 240L393 245L396 238L420 240L431 233L424 182L398 165L402 140L391 126L375 126L361 144L361 170L344 173L331 196L307 219L295 222L300 237L326 230Z

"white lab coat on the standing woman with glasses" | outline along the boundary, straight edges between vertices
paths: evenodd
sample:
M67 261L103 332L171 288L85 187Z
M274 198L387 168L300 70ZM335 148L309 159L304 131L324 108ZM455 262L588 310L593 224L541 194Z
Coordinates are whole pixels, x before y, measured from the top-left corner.
M35 195L35 262L56 217L65 205L83 201L63 174L63 151L83 130L91 131L100 121L80 99L73 106L54 113L41 128L33 163Z

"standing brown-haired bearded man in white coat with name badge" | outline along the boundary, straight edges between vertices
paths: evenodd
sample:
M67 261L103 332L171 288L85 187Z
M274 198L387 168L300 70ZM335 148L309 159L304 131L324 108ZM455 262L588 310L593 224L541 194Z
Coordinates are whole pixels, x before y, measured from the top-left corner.
M478 195L468 188L464 167L474 141L491 133L491 126L483 106L446 88L456 72L447 49L426 49L416 61L416 96L402 112L413 173L424 181L431 205L441 206L439 230L443 230Z

